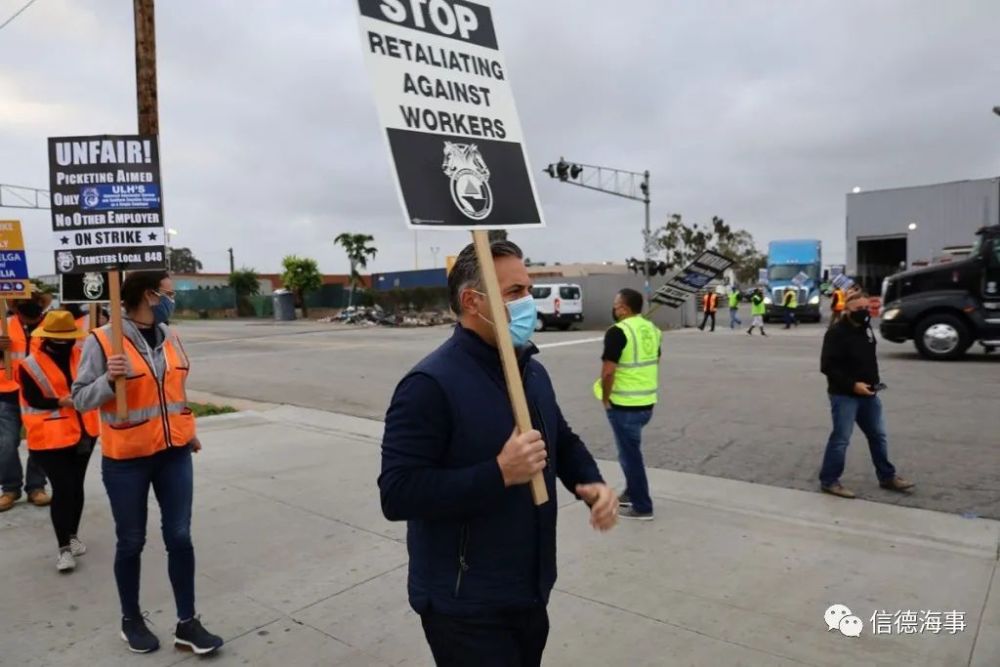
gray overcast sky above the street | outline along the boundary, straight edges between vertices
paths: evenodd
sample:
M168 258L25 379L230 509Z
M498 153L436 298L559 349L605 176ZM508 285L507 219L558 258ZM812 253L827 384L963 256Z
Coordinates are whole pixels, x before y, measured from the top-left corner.
M0 0L6 18L22 0ZM48 136L135 130L131 4L38 0L0 31L0 183L48 187ZM316 258L368 232L413 268L351 0L160 0L167 224L208 271ZM761 247L844 258L845 193L1000 175L1000 2L503 0L495 21L548 227L536 260L641 253L642 206L541 174L567 159L653 178L653 221L713 214ZM25 222L52 270L47 211ZM423 232L420 265L465 234Z

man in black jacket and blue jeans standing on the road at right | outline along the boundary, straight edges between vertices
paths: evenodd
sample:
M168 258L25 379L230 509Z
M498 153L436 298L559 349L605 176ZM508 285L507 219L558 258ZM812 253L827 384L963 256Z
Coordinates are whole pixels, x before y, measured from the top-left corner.
M833 432L826 444L819 481L825 493L841 498L854 498L854 493L840 483L840 475L844 472L844 458L855 423L868 438L879 485L891 491L913 487L913 482L897 475L889 462L882 401L878 397L881 380L875 332L870 320L868 297L856 292L847 297L843 316L827 329L823 338L820 370L827 379Z

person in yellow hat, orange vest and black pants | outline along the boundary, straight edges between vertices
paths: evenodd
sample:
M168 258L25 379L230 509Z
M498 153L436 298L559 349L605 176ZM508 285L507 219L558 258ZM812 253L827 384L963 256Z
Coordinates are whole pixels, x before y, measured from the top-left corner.
M77 412L71 387L80 365L77 340L87 334L65 310L46 314L32 332L41 340L20 365L21 418L28 451L52 482L52 527L59 552L56 569L68 572L87 552L78 537L83 515L83 481L100 431L96 410Z

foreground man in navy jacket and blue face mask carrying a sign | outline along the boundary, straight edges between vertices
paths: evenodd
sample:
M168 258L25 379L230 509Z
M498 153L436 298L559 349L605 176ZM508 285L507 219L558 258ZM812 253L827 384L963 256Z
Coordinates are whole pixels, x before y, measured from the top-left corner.
M521 250L492 244L534 430L517 434L473 246L448 277L454 334L399 383L385 419L382 511L407 521L410 606L438 665L539 665L556 579L556 477L595 529L615 492L563 418L527 340L537 317ZM527 482L541 472L549 501Z

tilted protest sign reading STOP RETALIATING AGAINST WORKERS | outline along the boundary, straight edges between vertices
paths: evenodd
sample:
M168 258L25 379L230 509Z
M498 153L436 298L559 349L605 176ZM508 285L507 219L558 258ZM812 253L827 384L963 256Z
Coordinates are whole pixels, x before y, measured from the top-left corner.
M409 226L542 226L489 5L358 0L358 9Z

